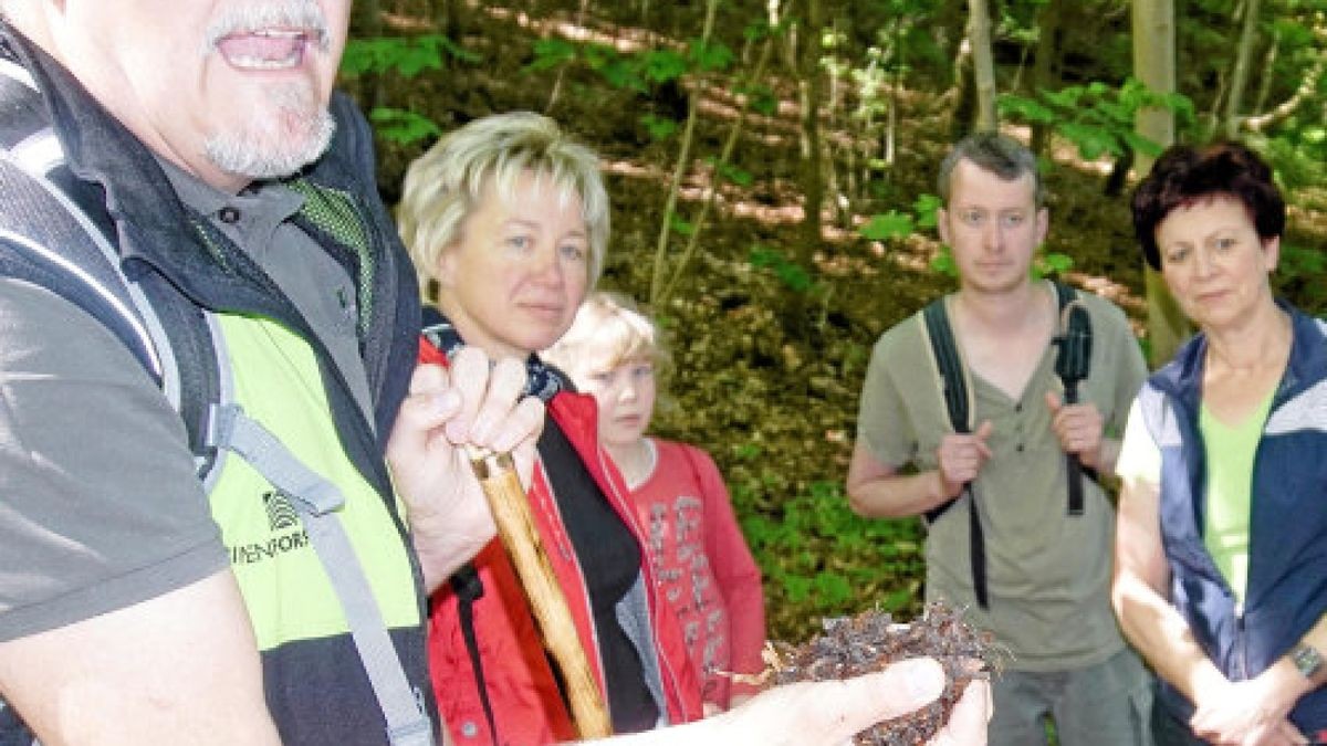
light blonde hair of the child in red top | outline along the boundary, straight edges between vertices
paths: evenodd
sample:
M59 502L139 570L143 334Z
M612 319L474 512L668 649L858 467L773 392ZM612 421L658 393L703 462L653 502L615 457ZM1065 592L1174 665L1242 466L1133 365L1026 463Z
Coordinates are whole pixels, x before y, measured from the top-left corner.
M575 368L573 361L585 360L594 350L604 350L609 368L630 360L649 360L657 378L667 372L671 357L658 325L628 296L612 291L596 291L581 303L567 333L540 357L560 368Z

